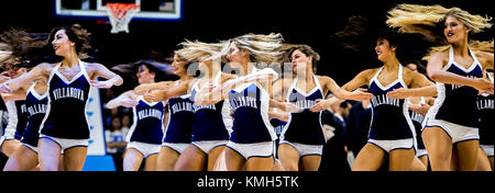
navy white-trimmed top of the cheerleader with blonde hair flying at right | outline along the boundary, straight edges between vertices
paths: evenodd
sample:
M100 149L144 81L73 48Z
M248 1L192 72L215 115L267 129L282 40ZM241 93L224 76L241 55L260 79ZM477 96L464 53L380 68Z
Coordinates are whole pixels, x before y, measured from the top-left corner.
M454 61L453 49L449 49L449 63L442 69L462 77L483 78L483 68L474 53L470 54L474 61L469 69ZM442 120L466 127L477 127L479 111L476 107L477 90L468 86L437 82L438 96L427 117Z

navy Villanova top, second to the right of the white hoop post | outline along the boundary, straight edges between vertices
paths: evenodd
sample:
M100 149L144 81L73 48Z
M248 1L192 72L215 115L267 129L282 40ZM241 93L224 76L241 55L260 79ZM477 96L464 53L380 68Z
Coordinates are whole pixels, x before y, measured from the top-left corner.
M189 144L195 112L190 94L168 99L168 125L163 143Z

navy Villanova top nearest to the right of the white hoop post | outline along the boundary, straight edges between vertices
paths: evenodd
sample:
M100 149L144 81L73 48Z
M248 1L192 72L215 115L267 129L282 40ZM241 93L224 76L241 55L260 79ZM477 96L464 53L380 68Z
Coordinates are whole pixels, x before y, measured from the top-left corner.
M133 124L125 138L128 143L162 144L164 102L146 102L142 95L138 96L139 104L132 107Z

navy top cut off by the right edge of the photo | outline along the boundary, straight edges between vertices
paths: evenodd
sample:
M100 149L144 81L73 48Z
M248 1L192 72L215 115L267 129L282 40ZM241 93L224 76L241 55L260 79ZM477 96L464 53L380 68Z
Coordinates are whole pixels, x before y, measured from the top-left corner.
M495 111L493 102L493 95L482 94L477 96L481 145L495 145Z

